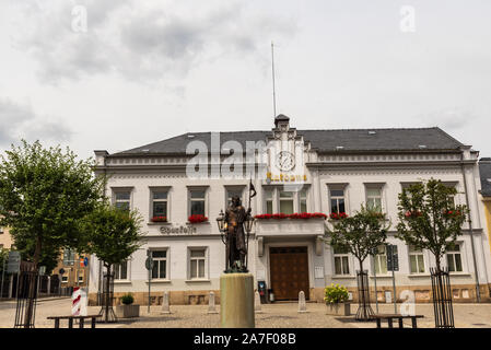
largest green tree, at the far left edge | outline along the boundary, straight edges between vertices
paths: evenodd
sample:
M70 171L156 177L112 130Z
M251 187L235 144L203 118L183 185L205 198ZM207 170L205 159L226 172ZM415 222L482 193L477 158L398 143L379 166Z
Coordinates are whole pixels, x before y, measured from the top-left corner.
M36 141L12 145L0 167L0 225L9 226L23 259L34 262L65 247L78 248L83 241L79 221L102 198L104 178L94 177L92 161L77 161L68 148L44 149ZM44 254L45 252L45 254ZM33 318L35 285L28 288L30 303L24 326Z

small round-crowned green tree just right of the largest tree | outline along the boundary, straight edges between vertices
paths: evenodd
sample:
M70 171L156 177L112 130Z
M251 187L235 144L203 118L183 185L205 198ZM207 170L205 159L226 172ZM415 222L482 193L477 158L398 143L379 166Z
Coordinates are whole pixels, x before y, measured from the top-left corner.
M127 260L141 246L141 221L136 210L119 209L102 202L82 222L82 231L85 232L86 240L83 253L96 255L106 268L104 283L106 299L103 306L105 322L108 322L109 317L115 318L109 293L107 293L112 268Z

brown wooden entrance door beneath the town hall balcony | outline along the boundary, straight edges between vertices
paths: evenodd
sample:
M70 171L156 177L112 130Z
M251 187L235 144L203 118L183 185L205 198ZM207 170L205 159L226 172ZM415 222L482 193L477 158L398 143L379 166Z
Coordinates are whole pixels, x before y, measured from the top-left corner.
M276 300L299 300L300 291L308 299L307 247L271 247L269 269Z

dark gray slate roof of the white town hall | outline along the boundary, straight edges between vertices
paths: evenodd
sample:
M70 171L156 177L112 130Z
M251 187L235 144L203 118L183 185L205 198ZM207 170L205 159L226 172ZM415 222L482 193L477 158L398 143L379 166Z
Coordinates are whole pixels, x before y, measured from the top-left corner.
M145 144L113 155L132 154L185 154L190 141L199 140L210 149L210 132L188 132L163 141ZM220 141L235 140L245 150L246 141L266 141L271 131L220 132ZM344 129L344 130L297 130L314 149L323 152L369 152L369 151L457 151L464 145L442 129ZM420 145L424 145L421 148ZM342 147L342 149L337 149Z

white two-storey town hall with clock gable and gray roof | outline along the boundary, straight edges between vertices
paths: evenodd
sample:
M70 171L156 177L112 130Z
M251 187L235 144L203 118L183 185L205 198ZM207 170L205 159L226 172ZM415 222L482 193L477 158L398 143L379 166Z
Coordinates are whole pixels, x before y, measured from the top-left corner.
M362 203L381 208L391 221L387 241L398 247L397 294L413 291L418 302L431 299L430 267L434 259L429 252L418 252L395 238L398 194L405 186L432 177L455 186L455 202L468 205L472 226L464 225L457 247L444 259L452 271L454 301L475 301L477 282L481 300L490 300L491 257L478 198L477 151L440 128L296 130L282 115L274 119L272 130L221 132L220 141L210 132L189 132L114 154L95 151L96 173L110 175L106 192L113 203L138 209L144 218L143 245L116 269L117 298L132 292L137 303L147 303L147 250L155 261L151 272L153 302L159 302L163 291L169 292L174 304L204 303L209 291L220 295L225 247L215 219L233 195L248 205L249 176L194 178L189 171L195 166L188 165L198 159L186 154L186 149L190 147L192 154L200 148L211 150L206 156L211 165L204 170L214 174L220 164L230 161L226 149L242 145L245 150L247 141L267 145L266 153L246 159L248 170L266 175L253 178L257 190L250 203L253 214L352 214ZM209 221L190 223L190 214L202 214ZM167 222L159 222L156 217L165 217ZM335 282L347 285L355 300L356 261L324 243L326 226L331 228L331 223L316 218L258 219L248 252L255 283L266 281L277 300L295 300L302 290L307 299L323 301L325 285ZM92 302L102 289L102 267L95 258L93 261ZM364 267L371 275L371 289L376 270L377 298L385 301L393 282L384 247L374 260L365 260Z

